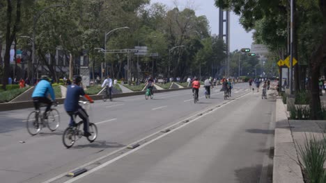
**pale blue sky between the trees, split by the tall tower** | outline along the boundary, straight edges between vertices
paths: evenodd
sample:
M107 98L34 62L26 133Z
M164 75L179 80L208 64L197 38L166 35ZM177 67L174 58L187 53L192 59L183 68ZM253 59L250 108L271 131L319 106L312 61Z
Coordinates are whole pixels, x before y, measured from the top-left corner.
M163 3L168 8L175 7L175 0L150 0L150 3ZM215 7L214 0L176 0L178 8L183 10L187 4L196 11L196 16L205 15L210 22L211 34L219 34L219 9ZM239 24L239 17L231 12L230 22L230 51L249 48L251 46L252 33L247 33Z

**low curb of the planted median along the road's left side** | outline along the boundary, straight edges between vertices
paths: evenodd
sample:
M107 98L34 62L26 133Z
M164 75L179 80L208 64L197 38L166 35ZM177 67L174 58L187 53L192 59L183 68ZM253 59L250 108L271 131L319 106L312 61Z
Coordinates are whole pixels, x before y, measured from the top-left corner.
M155 93L163 93L163 92L174 92L178 90L185 90L185 89L191 89L191 88L178 88L178 89L162 89L162 90L155 90ZM113 98L121 98L126 96L137 96L137 95L143 95L145 92L129 92L129 93L122 93L122 94L112 94ZM92 95L91 98L94 101L102 100L102 95ZM65 101L65 98L58 98L56 101L59 104L62 104L63 101ZM16 103L1 103L0 104L0 112L1 111L10 111L10 110L21 110L25 108L33 107L32 101L24 101L24 102L16 102Z

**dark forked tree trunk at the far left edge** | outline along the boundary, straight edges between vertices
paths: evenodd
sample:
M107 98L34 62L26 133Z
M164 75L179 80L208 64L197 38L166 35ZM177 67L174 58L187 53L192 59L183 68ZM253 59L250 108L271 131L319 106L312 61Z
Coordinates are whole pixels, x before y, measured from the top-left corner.
M20 7L22 0L17 0L16 5L16 20L13 24L13 32L11 33L11 24L12 24L12 14L13 14L13 5L12 1L7 0L7 28L6 28L6 52L4 56L4 72L2 78L2 88L6 90L6 85L8 84L8 78L10 75L10 47L13 44L13 40L16 37L16 32L20 24Z

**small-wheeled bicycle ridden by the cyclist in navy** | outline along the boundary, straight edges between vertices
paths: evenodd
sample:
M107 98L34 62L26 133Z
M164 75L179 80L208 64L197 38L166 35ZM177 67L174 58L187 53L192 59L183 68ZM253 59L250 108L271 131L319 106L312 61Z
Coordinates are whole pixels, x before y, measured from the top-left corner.
M79 101L79 103L84 106L89 106L89 103L87 102ZM74 121L76 121L74 115L72 116L72 118ZM78 139L84 136L84 132L81 130L81 125L83 125L83 121L79 121L79 123L76 123L74 126L66 128L63 132L62 141L63 145L66 148L71 148ZM91 133L91 136L88 136L86 138L89 142L92 143L98 137L98 128L96 127L95 123L89 123L88 132Z

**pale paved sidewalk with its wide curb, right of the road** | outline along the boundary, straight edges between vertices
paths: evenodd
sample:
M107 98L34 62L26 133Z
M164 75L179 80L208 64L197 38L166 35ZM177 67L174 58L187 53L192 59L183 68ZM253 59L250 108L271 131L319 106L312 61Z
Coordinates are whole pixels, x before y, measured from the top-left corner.
M320 96L326 102L326 95ZM277 99L273 182L304 182L300 167L299 147L304 146L307 139L315 136L323 138L326 121L288 120L286 105Z

